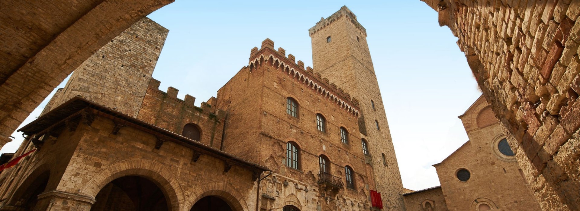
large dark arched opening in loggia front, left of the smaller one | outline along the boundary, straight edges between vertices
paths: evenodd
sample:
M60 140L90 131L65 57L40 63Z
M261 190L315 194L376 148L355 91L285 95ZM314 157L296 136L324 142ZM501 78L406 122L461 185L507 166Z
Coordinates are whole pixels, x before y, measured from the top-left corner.
M165 194L151 180L140 176L119 177L104 186L91 211L169 211Z

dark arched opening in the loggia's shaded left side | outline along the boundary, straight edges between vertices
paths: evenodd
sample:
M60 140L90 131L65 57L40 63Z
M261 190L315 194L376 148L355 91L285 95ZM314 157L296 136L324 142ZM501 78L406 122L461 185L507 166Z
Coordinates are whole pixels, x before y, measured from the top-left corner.
M23 192L18 191L19 193L15 194L20 195L17 201L21 202L21 210L34 210L34 207L38 202L38 195L43 193L46 189L49 176L49 171L42 172L32 183L28 184L26 190L23 189ZM26 185L26 183L27 181L25 181L23 185Z

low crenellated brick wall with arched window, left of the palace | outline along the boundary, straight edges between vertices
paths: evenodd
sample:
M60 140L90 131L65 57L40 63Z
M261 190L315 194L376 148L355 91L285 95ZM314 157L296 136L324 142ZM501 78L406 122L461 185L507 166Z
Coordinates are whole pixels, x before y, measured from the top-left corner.
M182 100L177 98L176 88L169 87L168 92L163 92L158 89L159 85L158 80L151 79L137 119L179 135L186 124L193 123L200 129L201 143L220 149L226 112L206 102L201 103L201 108L194 106L195 98L191 95ZM212 98L208 102L216 101Z

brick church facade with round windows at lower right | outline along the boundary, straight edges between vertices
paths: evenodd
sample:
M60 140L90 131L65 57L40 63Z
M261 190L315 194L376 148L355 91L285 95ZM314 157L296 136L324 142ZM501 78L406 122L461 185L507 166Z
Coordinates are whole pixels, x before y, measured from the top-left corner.
M447 208L478 210L479 206L488 205L501 210L541 210L516 157L499 151L499 142L505 135L485 98L477 99L459 118L469 141L434 165ZM460 169L470 173L465 182L456 176Z

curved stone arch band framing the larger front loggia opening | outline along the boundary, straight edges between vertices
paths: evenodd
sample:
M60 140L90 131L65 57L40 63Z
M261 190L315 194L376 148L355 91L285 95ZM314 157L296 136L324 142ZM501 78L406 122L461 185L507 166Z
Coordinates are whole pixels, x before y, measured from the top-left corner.
M169 210L183 210L180 206L184 203L183 189L176 176L163 164L152 160L131 159L108 166L85 184L80 192L96 198L107 184L124 176L139 176L150 180L165 194Z

